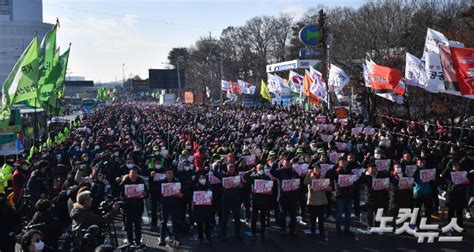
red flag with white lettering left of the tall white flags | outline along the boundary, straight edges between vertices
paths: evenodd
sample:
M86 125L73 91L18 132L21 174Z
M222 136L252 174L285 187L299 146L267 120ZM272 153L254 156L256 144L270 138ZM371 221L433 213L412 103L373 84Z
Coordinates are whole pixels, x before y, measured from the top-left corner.
M394 90L401 78L400 70L376 64L370 66L369 79L373 90Z

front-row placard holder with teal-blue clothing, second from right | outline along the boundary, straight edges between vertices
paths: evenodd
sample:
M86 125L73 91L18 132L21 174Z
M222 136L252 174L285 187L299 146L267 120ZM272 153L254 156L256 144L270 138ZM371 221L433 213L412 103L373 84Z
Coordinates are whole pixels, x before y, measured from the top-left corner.
M415 179L415 186L413 187L413 201L414 207L421 208L424 206L424 216L427 218L427 223L431 223L431 214L433 212L433 194L430 181L424 181L421 176L421 171L428 170L425 165L425 159L418 157L416 160L416 171L413 175ZM417 224L420 223L421 214L418 215Z

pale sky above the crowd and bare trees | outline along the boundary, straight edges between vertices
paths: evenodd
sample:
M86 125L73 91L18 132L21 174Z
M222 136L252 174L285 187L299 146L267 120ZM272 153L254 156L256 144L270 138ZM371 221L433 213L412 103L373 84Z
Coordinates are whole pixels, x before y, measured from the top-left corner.
M356 0L43 0L43 19L61 27L58 44L72 43L69 74L95 81L148 77L149 68L167 67L172 47L199 37L218 37L227 26L241 26L259 15L300 17L318 4L357 8Z

